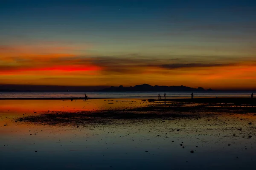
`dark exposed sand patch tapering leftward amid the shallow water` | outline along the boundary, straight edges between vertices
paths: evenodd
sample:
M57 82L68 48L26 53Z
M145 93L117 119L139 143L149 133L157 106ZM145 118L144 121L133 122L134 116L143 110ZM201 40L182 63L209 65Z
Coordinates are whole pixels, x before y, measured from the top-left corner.
M73 99L72 99L73 100ZM132 99L131 99L132 100ZM17 119L44 124L106 123L112 119L201 118L225 114L254 114L256 100L251 98L137 99L146 105L134 108L96 109L94 111L45 111ZM105 100L106 101L106 100ZM108 100L113 102L127 102Z

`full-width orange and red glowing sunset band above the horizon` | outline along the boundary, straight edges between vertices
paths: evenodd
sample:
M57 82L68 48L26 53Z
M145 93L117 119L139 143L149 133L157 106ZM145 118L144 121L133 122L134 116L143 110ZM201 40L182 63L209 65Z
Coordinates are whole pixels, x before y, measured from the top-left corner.
M84 50L90 48L87 45L45 43L0 46L0 82L81 86L148 83L218 89L255 88L255 59L101 57L84 54Z

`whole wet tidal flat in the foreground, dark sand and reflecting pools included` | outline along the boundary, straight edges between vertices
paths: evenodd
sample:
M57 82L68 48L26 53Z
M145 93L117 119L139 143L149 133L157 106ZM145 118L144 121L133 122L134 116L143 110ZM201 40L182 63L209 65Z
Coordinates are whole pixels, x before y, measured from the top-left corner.
M1 100L0 169L253 169L256 105L216 100Z

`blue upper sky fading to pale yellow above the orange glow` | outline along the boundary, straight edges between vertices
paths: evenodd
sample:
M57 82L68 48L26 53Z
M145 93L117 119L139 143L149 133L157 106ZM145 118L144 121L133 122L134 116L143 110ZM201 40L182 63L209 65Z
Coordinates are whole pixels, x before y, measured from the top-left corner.
M0 43L88 43L100 55L194 45L241 53L255 45L255 18L255 0L2 0Z

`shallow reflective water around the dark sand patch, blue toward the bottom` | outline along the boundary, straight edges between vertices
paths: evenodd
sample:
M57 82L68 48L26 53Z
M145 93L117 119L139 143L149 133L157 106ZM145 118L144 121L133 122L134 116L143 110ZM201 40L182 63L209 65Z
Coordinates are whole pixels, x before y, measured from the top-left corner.
M79 126L15 122L23 114L36 116L48 110L93 111L148 105L140 99L120 100L1 101L0 169L238 170L255 167L254 114L220 114L218 119L216 116L115 119L111 124ZM252 137L248 138L249 135Z

